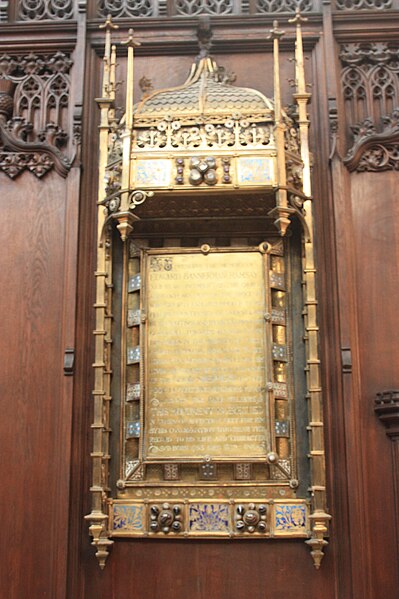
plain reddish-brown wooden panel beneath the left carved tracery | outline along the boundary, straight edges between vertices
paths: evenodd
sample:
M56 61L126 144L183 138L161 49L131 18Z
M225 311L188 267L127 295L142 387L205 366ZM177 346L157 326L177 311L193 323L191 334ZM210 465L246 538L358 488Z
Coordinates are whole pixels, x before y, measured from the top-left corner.
M49 174L46 185L30 173L18 183L1 175L0 596L9 599L22 599L28 590L35 599L65 596L71 436L63 388L66 209L66 185L57 174Z

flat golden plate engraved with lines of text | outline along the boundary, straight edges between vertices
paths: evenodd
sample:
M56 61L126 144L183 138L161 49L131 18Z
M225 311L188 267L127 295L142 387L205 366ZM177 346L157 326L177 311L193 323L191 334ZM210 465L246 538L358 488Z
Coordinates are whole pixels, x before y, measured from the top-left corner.
M147 254L144 458L262 459L266 257Z

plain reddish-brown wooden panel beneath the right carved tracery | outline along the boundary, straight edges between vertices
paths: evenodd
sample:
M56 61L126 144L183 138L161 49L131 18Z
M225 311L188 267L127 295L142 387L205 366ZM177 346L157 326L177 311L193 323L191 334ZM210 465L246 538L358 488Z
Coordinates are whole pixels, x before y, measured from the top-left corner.
M374 414L377 392L399 387L399 207L398 174L362 173L351 177L356 265L359 421L353 435L362 455L362 489L371 597L395 597L399 588L391 441ZM353 498L355 499L355 497ZM380 567L375 567L376 556ZM396 556L396 559L395 559Z

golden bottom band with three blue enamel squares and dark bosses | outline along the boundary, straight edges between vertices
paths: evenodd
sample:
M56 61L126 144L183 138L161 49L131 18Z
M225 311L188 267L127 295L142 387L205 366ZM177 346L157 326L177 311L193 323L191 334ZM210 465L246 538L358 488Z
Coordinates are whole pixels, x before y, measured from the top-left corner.
M306 500L109 501L113 537L308 538Z

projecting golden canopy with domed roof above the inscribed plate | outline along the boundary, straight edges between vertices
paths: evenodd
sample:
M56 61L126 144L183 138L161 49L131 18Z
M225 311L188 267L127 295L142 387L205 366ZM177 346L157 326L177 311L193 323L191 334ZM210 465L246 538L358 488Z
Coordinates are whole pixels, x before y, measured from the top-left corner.
M275 224L284 235L290 216L300 211L309 178L307 116L300 125L282 110L279 37L275 24L274 100L257 90L232 85L232 76L209 55L210 29L200 27L201 53L187 81L146 95L133 103L132 34L127 42L126 112L112 124L105 204L126 239L137 218L137 205L147 197L188 190L209 194L262 190L269 194ZM110 79L112 75L110 60ZM308 101L309 94L301 98ZM299 121L300 122L300 121ZM299 144L302 139L302 148ZM273 210L272 210L273 209ZM133 212L135 211L135 212ZM145 209L140 209L140 218ZM168 216L165 214L164 216Z

